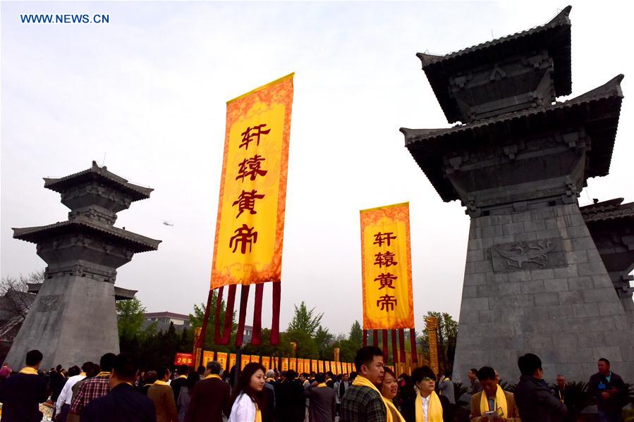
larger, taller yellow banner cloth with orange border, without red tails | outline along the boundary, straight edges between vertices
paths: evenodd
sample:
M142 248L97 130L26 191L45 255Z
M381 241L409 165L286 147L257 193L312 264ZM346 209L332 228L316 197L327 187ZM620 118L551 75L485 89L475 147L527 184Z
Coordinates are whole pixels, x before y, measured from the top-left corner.
M293 75L227 102L212 289L281 280Z

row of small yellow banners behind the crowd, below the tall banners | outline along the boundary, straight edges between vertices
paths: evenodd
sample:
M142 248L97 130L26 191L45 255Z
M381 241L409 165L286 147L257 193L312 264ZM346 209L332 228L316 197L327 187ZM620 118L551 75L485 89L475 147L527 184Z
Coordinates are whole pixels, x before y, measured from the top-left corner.
M207 366L207 362L216 360L220 363L222 368L229 370L236 364L236 354L226 352L208 352L205 350L202 352L202 364ZM256 362L262 364L267 369L279 369L279 371L288 371L292 369L297 373L310 373L310 372L332 372L335 375L340 373L350 373L355 370L354 364L351 362L337 362L337 361L319 361L317 359L302 359L302 358L288 358L288 357L274 357L274 356L259 356L256 354L243 354L240 355L240 368L244 368L246 364L250 362ZM227 365L228 364L228 365ZM394 370L394 368L392 368Z

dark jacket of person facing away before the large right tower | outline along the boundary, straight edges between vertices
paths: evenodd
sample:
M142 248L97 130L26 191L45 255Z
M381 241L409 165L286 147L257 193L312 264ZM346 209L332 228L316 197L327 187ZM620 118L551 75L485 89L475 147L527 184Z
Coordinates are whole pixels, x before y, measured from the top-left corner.
M555 422L566 416L568 409L552 394L549 387L532 376L521 376L513 393L522 422Z

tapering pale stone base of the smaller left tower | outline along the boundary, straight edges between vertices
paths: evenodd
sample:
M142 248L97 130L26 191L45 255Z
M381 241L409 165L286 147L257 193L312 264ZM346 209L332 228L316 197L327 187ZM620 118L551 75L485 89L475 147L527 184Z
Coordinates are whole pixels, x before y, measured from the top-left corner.
M21 368L32 349L44 354L42 368L98 363L104 353L118 353L114 284L75 275L45 280L6 362Z

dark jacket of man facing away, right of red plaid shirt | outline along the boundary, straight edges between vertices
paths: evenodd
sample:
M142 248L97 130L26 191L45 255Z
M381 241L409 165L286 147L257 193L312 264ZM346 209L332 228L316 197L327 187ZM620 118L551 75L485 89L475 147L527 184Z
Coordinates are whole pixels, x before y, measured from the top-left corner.
M156 422L157 412L148 397L123 383L108 394L91 400L82 411L81 422Z

